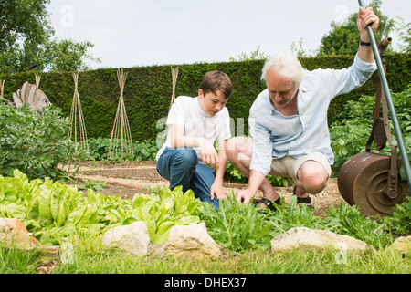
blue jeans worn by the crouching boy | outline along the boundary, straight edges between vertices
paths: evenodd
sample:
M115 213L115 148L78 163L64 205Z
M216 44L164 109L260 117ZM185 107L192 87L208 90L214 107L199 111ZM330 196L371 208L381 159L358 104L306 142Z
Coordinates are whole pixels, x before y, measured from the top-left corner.
M211 185L214 183L214 171L207 165L198 163L197 154L192 148L165 148L157 161L157 172L170 181L170 189L183 186L185 193L189 189L195 193L195 198L213 204L218 210L218 199L210 198Z

